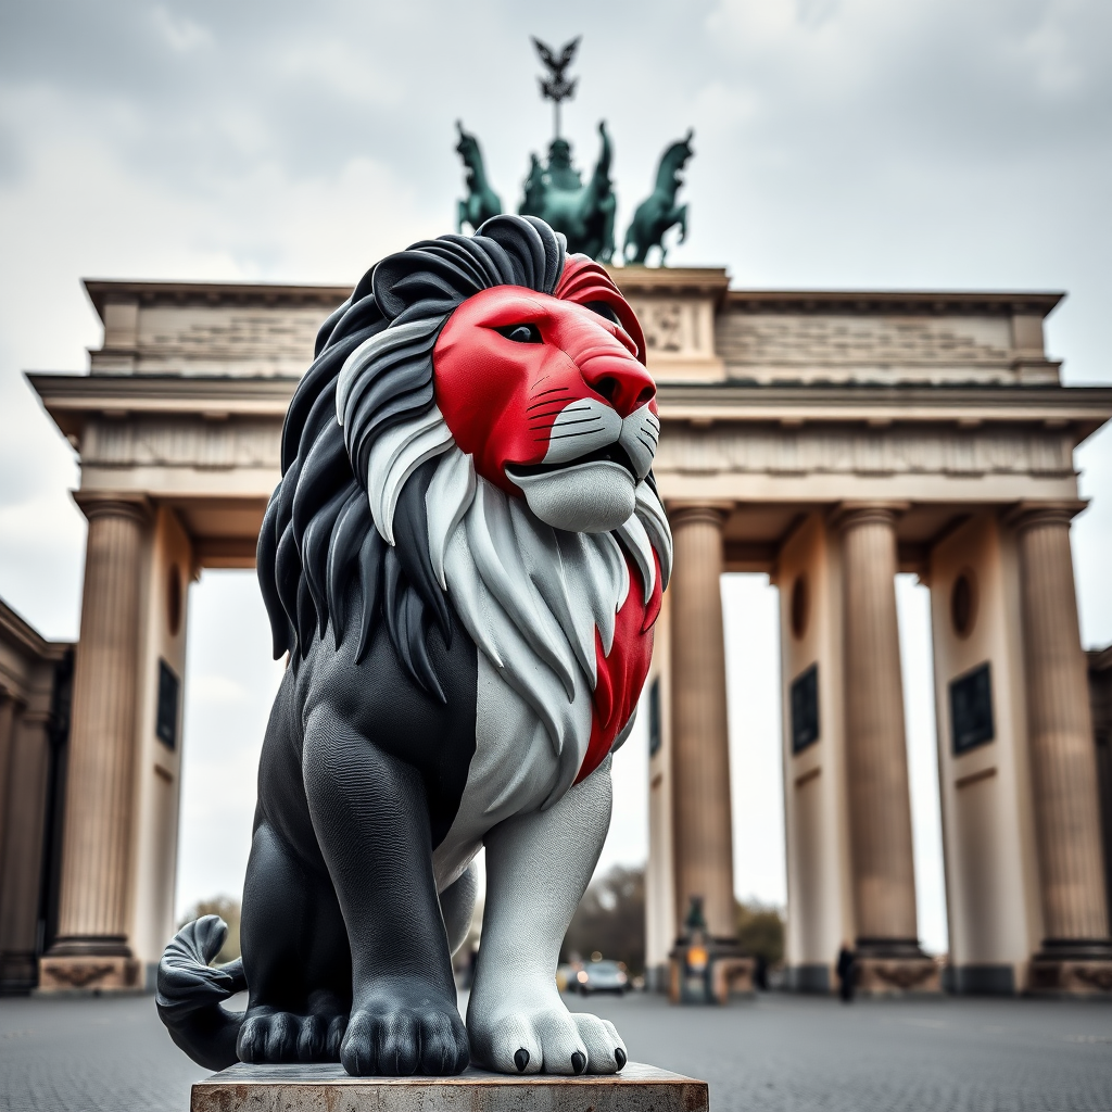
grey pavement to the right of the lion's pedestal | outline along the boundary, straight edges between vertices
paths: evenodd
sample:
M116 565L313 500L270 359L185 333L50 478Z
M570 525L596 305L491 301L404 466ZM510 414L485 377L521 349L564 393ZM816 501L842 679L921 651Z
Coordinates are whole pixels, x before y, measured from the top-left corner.
M726 1009L655 995L569 1006L613 1020L634 1061L708 1081L712 1112L1112 1109L1106 1002L773 993Z

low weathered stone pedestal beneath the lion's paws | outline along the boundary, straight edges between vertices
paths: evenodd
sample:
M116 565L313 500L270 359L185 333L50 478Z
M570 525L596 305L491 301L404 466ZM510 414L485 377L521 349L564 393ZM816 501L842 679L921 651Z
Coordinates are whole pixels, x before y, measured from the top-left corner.
M246 1065L193 1085L190 1112L708 1112L705 1081L629 1062L616 1075L349 1078L340 1065Z

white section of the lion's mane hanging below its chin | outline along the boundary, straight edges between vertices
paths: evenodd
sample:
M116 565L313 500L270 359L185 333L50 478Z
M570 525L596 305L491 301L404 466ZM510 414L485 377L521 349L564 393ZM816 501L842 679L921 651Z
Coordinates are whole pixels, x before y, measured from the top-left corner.
M540 522L522 498L475 474L439 409L395 426L370 453L368 497L378 532L394 544L398 494L414 469L440 455L426 494L429 557L478 651L544 723L560 767L557 798L575 780L589 741L584 701L596 683L595 631L604 654L629 592L618 538L637 564L645 600L672 568L672 535L651 487L614 533L567 533ZM584 729L583 723L587 722Z

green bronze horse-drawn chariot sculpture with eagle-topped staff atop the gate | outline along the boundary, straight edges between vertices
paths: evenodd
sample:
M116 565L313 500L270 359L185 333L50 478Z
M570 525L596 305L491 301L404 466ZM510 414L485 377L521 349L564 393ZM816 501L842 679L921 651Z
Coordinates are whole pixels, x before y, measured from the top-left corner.
M539 39L533 44L548 70L547 77L539 79L540 95L553 102L553 140L548 147L548 159L543 162L530 155L528 177L525 179L525 195L518 206L522 216L535 216L549 227L562 232L567 239L572 254L586 255L599 262L609 262L614 257L614 219L617 198L610 181L612 147L606 122L598 125L600 148L594 171L586 183L572 159L572 145L560 136L560 105L569 100L576 88L576 79L568 78L579 39L566 42L559 51L546 46ZM484 219L502 210L498 195L490 188L478 140L459 128L457 152L466 167L468 196L459 202L458 227L475 229ZM673 227L679 226L681 242L687 235L687 207L677 207L676 190L682 185L679 170L692 156L692 132L685 139L673 143L661 159L656 189L637 208L634 221L626 232L625 252L631 262L643 264L652 247L661 249L661 262L665 260L664 236Z

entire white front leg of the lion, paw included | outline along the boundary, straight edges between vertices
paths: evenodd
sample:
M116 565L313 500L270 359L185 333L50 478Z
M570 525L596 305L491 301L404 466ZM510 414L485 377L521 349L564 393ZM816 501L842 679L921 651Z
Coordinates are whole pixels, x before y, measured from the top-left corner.
M476 1062L503 1073L616 1073L614 1024L570 1013L556 989L559 947L610 824L610 759L548 811L486 837L487 894L467 1033Z

